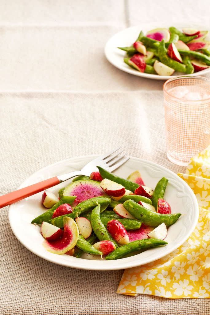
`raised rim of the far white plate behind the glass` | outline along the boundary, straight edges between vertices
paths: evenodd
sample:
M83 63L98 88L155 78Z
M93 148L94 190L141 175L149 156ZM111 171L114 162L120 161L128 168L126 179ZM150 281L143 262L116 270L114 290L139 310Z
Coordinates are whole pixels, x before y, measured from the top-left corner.
M138 77L144 77L144 78L147 78L147 79L153 79L153 80L159 80L159 81L166 81L168 79L171 79L171 78L175 78L177 76L186 76L186 77L189 77L191 75L194 75L194 76L199 76L199 75L205 75L206 73L210 72L210 67L207 68L207 69L204 69L204 70L201 70L201 71L198 71L198 72L194 72L192 74L180 74L180 75L174 75L174 76L159 76L158 74L150 74L150 73L144 73L144 72L139 72L137 70L134 70L134 69L131 69L131 68L127 68L127 67L123 67L121 65L118 65L117 63L113 62L113 60L110 58L109 54L108 54L108 51L109 51L109 44L111 42L111 40L117 36L119 33L123 33L125 30L128 30L128 29L136 29L137 27L139 27L139 29L143 29L144 30L144 27L147 28L146 26L151 26L151 29L154 28L155 26L157 26L157 24L159 24L158 22L153 22L153 23L142 23L141 25L135 25L135 26L129 26L129 27L126 27L124 28L123 30L117 32L116 34L112 35L108 41L106 42L105 44L105 47L104 47L104 53L105 53L105 57L106 59L113 65L115 66L117 69L120 69L122 70L123 72L127 72L129 74L133 74L135 76L138 76ZM162 27L168 27L168 26L164 26L164 24L167 24L167 23L162 23ZM177 24L176 23L176 27L178 28L182 28L182 27L187 27L187 26L183 26L184 23L180 23L180 24ZM189 23L192 27L201 27L201 29L204 28L204 26L201 26L199 24L193 24L193 23ZM189 25L188 25L189 27ZM208 31L209 30L209 26L206 27L206 29Z

